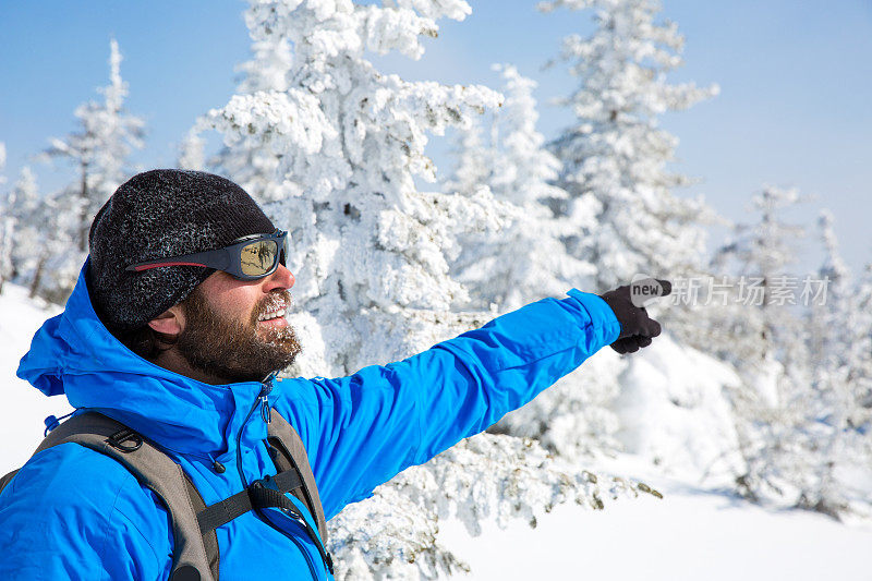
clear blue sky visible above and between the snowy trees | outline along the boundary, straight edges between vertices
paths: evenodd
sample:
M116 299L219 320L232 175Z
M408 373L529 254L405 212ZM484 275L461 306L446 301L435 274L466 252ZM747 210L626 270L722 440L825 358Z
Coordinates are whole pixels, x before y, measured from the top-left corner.
M590 31L588 13L540 14L534 2L472 2L461 23L443 21L421 61L398 57L379 65L408 78L497 86L494 62L511 62L540 83L540 130L554 137L572 118L548 105L574 81L559 65L542 71L562 36ZM0 1L0 141L5 174L50 136L75 129L75 107L108 82L109 39L124 56L128 108L146 120L143 167L168 166L194 119L233 94L233 66L249 55L238 0L149 2ZM836 217L843 253L855 268L872 261L872 2L869 0L665 0L665 17L686 36L686 64L676 82L717 83L720 95L663 125L680 138L678 171L699 178L703 194L734 220L747 217L763 184L797 186L815 196L795 221L813 226L819 208ZM434 157L448 169L444 145ZM35 165L40 183L57 187L70 168ZM720 232L715 232L715 237ZM801 269L820 254L803 246Z

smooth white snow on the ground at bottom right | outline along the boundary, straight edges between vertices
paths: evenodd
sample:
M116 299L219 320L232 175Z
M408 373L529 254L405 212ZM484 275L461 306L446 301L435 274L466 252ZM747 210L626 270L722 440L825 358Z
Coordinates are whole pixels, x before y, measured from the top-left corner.
M623 471L638 474L638 462L626 460ZM643 495L602 511L561 505L534 530L513 521L507 530L485 526L477 537L456 520L443 522L439 541L472 567L476 581L872 578L869 524L767 510L663 476L646 482L665 498Z

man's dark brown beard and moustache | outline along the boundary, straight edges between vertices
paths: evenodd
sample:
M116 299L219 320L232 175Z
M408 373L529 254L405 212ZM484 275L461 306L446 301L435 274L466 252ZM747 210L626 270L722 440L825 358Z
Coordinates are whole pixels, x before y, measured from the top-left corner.
M227 382L259 382L290 365L302 348L288 325L262 328L258 317L281 303L291 306L291 293L274 291L240 323L213 310L199 288L182 303L185 328L175 347L192 367Z

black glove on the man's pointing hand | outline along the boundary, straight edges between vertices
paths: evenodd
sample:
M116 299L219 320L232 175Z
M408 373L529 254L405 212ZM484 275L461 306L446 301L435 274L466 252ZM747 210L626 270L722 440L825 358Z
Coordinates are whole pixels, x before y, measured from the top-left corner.
M649 278L601 294L620 323L620 335L611 349L622 355L650 346L651 339L661 334L661 324L647 316L644 304L671 291L673 283L668 280Z

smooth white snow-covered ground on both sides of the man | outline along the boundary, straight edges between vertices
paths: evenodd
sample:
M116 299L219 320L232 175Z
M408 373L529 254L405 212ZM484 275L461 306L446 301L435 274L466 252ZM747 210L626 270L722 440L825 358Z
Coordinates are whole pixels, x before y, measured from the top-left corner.
M57 307L8 285L0 294L0 473L20 465L43 419L69 411L15 377L31 338ZM459 521L440 537L471 567L471 579L790 580L872 579L872 524L839 524L802 511L760 508L693 482L665 476L638 456L592 467L632 475L665 495L606 503L603 511L561 506L536 529L486 525L471 537Z

